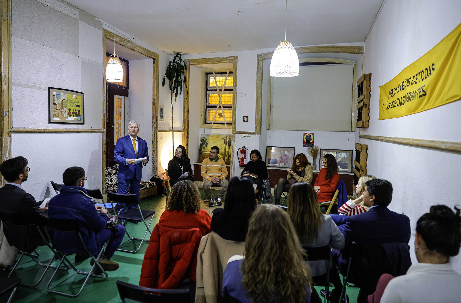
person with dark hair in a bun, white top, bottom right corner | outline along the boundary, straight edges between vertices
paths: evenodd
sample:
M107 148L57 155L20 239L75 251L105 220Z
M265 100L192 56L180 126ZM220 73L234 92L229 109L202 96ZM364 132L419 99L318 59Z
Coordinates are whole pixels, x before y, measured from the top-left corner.
M461 275L450 263L450 258L460 251L460 213L456 206L454 212L446 205L433 205L420 217L414 239L418 263L413 263L407 274L390 280L382 303L460 301Z

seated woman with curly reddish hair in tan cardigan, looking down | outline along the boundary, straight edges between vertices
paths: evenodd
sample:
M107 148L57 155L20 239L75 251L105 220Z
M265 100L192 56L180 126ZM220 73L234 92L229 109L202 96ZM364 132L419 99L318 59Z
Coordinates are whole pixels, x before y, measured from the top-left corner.
M287 170L288 175L285 178L280 178L278 183L274 186L275 203L280 204L280 197L282 192L289 192L290 188L296 182L312 182L312 166L307 160L305 154L297 154L293 160L291 169Z

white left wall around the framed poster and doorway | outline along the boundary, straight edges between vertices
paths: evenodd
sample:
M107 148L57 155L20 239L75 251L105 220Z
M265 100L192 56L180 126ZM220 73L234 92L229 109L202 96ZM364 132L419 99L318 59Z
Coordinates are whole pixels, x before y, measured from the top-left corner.
M12 1L13 128L102 128L102 28L94 16L64 1ZM116 32L159 54L159 99L169 100L168 89L161 88L169 55L123 31ZM135 99L143 103L130 107L143 113L136 118L141 120L140 136L148 141L152 154L152 68L146 68L143 75L148 77L145 86L150 85L150 92L148 96L147 89L145 94L140 92ZM47 87L85 93L85 124L48 124ZM62 173L70 166L85 169L86 188L102 187L101 133L13 133L12 156L26 157L35 170L24 189L37 200L47 194L48 181L62 182ZM150 169L144 168L143 178L150 176Z

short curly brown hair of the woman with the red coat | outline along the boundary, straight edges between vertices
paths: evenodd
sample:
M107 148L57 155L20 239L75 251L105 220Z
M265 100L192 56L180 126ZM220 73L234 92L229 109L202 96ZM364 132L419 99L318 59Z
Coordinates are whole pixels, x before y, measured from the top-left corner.
M166 210L184 210L185 214L196 214L200 210L200 192L197 186L189 180L177 182L171 187Z

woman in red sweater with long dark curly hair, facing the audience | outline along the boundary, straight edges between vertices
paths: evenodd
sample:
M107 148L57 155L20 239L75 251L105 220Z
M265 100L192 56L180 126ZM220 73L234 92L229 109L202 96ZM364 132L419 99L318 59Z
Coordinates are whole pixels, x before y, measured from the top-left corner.
M323 169L315 179L314 190L319 196L319 203L331 201L338 186L338 164L331 154L323 156Z

